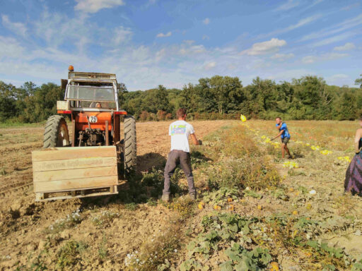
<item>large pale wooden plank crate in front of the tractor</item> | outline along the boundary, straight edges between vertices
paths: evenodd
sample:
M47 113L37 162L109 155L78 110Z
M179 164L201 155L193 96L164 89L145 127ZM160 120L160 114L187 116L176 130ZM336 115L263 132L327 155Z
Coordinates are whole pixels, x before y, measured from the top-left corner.
M36 200L117 193L115 146L51 147L33 151L32 159Z

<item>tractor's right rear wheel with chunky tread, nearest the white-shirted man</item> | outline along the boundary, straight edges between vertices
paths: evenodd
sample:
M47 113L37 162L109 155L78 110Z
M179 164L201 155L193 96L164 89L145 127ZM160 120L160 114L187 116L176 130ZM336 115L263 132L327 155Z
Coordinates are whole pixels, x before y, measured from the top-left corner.
M136 121L133 116L124 116L124 174L136 167Z

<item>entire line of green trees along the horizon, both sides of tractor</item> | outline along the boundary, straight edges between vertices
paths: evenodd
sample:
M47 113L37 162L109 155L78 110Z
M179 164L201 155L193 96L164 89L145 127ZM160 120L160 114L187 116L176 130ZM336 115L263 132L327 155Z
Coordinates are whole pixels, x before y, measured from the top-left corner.
M361 75L362 76L362 75ZM129 92L119 84L119 104L141 121L174 119L178 108L191 119L337 119L354 120L362 114L362 78L359 88L327 85L323 78L303 76L291 82L261 79L243 86L238 77L200 78L180 89L163 85ZM59 85L32 82L20 88L0 81L0 122L33 123L57 113L57 100L64 99Z

